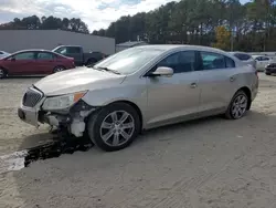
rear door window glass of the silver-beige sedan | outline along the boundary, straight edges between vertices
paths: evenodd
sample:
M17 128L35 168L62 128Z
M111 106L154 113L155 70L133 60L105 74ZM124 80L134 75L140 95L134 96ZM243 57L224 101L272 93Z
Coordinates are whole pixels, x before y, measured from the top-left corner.
M225 69L226 63L224 55L212 52L200 52L203 70Z

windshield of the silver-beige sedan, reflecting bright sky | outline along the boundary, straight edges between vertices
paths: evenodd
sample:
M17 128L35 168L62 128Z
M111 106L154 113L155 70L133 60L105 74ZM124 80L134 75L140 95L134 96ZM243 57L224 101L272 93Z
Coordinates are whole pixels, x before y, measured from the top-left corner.
M131 48L103 60L94 67L105 67L117 71L120 74L131 74L163 51L155 48Z

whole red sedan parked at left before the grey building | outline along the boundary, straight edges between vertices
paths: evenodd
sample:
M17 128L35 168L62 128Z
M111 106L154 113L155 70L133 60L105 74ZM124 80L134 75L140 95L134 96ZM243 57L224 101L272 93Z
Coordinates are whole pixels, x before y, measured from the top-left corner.
M0 60L0 79L9 75L39 75L74 69L73 58L46 50L24 50Z

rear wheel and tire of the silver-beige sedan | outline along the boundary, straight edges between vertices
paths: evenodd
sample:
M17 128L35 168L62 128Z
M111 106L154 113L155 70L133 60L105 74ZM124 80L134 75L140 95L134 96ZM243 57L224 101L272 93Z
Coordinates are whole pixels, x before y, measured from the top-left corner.
M247 112L248 104L250 101L246 93L244 91L237 91L227 107L225 117L229 119L242 118Z

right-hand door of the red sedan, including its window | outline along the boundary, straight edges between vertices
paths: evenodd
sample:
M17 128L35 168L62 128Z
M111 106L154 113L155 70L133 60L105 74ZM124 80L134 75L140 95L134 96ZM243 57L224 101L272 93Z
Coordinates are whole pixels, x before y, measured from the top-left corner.
M51 74L56 65L56 55L50 52L38 52L36 65L39 74Z

